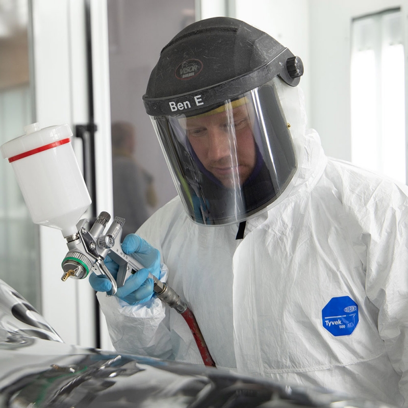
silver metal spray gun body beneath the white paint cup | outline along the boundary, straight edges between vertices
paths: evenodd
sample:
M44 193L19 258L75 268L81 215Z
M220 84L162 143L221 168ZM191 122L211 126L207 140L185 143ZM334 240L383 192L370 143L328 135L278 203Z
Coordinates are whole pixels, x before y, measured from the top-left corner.
M115 217L107 233L104 234L110 219L110 214L103 211L91 228L89 228L89 221L83 219L77 224L78 232L66 237L69 251L62 261L64 271L62 281L65 282L68 277L85 278L92 269L95 273L104 274L109 279L112 289L108 292L108 296L112 296L118 287L124 285L132 273L143 268L143 265L125 254L120 246L124 218ZM104 263L108 255L119 265L116 281ZM172 288L165 282L159 281L151 273L149 273L149 277L153 279L154 291L159 299L179 313L184 313L187 310L187 304Z

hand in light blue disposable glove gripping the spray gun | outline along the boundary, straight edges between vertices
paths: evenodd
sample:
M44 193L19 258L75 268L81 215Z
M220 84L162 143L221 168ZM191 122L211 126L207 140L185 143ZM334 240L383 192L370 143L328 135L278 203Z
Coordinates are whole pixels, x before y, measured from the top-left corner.
M122 250L140 262L144 268L127 278L124 285L118 288L115 296L129 304L146 302L154 293L153 279L147 277L149 272L160 279L160 252L136 234L129 234L124 238ZM104 262L116 279L119 265L109 256ZM112 289L112 284L105 275L97 275L94 272L89 275L89 283L97 292L108 292Z

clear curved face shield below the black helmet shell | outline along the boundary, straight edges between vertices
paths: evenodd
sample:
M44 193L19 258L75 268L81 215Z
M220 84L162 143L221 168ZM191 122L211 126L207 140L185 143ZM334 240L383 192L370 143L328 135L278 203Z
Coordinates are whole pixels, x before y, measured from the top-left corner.
M268 208L297 161L273 82L196 115L152 119L191 219L219 225Z

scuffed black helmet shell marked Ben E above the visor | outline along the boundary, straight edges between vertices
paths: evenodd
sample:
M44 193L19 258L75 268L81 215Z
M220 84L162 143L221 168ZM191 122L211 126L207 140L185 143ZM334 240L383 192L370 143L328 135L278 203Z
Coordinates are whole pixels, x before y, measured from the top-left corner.
M294 74L293 58L300 66ZM196 114L276 75L296 86L302 73L300 58L263 31L234 18L208 18L190 24L163 48L143 101L151 116Z

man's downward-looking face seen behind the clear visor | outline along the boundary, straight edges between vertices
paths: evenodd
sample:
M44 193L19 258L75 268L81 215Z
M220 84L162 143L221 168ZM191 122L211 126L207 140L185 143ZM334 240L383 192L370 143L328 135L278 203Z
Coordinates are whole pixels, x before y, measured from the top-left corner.
M224 187L245 183L257 160L246 104L221 113L186 118L182 126L202 165Z

